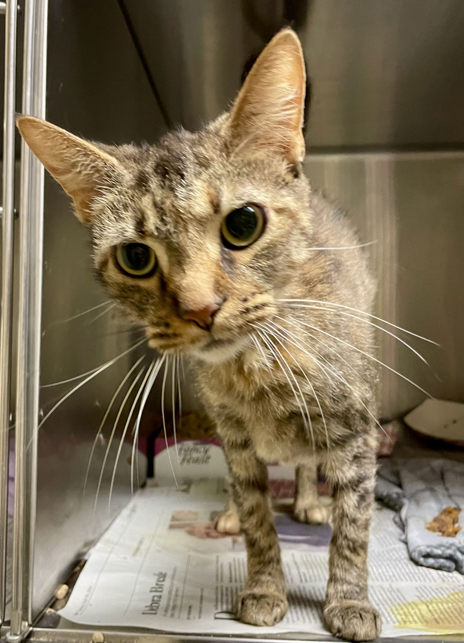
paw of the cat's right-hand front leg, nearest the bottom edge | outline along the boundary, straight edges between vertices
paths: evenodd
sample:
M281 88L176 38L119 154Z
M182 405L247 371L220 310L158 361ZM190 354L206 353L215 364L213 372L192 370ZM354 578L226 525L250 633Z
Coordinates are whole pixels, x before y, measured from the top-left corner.
M368 602L332 602L324 609L324 619L334 636L350 641L372 641L382 628L379 612Z

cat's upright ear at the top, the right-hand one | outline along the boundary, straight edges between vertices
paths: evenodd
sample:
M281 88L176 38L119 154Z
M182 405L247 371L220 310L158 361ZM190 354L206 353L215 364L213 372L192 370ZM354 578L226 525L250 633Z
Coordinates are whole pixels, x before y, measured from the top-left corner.
M305 89L300 41L284 29L259 55L232 106L227 122L232 152L260 149L290 165L301 163Z

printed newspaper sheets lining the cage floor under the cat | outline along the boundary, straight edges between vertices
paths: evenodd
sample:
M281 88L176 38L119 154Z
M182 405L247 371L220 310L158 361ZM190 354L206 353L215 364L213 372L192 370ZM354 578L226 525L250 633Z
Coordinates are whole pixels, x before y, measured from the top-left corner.
M203 481L184 489L146 488L134 496L91 550L60 614L91 626L178 633L327 634L322 624L327 544L308 544L300 525L295 536L282 536L288 613L272 628L238 622L232 609L246 577L243 537L219 538L211 528L214 512L227 498L223 484ZM374 512L369 569L370 597L381 612L384 637L445 633L462 615L454 599L464 592L463 577L415 565L388 509ZM454 602L448 604L447 597ZM434 606L440 598L443 604ZM443 609L449 611L445 625Z

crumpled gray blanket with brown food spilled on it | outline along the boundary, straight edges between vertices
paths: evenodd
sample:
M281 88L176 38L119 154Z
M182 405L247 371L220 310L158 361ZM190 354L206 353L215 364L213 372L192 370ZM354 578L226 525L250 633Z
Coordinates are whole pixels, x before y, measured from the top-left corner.
M442 536L426 525L446 507L464 509L464 464L452 460L386 460L379 467L375 497L397 511L397 524L418 565L464 574L464 529ZM464 527L464 511L458 525Z

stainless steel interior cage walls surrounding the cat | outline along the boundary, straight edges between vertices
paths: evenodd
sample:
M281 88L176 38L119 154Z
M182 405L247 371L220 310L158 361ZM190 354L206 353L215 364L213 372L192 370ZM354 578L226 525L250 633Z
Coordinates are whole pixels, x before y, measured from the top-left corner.
M382 359L438 397L463 399L461 0L125 0L125 7L168 120L190 129L227 108L246 60L284 21L294 24L311 78L307 173L347 208L362 240L377 240L370 253L379 314L442 344L424 349L442 381L388 338ZM162 134L166 119L117 3L55 0L49 11L47 118L106 142ZM103 309L69 320L105 294L92 277L87 231L49 177L44 234L47 385L97 367L134 336L111 312L93 319ZM85 497L82 490L101 417L135 359L92 379L40 429L36 611L128 498L126 454L108 514L113 449L94 514L112 424L97 443ZM71 385L42 389L44 413ZM382 415L422 397L384 372Z

